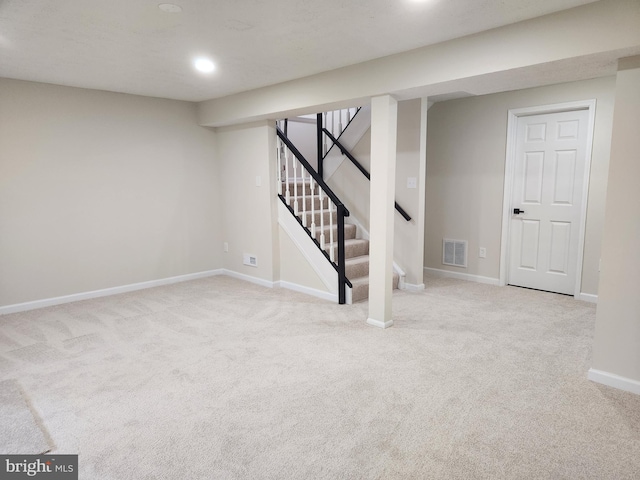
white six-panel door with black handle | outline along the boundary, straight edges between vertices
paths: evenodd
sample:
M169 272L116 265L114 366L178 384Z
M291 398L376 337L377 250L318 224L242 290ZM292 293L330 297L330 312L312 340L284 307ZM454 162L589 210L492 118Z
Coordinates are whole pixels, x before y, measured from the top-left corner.
M574 294L588 122L588 110L518 118L510 285Z

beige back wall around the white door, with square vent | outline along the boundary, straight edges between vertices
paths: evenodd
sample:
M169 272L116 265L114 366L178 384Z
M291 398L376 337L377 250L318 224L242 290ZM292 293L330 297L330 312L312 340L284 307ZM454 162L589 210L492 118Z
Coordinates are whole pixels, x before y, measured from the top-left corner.
M598 293L615 78L436 103L428 113L425 266L498 279L509 109L596 99L582 293ZM469 241L466 269L442 265L442 239ZM487 258L478 258L486 247Z

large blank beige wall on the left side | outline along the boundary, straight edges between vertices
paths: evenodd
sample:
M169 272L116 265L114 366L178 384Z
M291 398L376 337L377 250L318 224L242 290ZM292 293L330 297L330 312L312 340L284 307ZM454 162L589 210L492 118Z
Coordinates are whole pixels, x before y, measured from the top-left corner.
M0 79L0 306L220 267L192 103Z

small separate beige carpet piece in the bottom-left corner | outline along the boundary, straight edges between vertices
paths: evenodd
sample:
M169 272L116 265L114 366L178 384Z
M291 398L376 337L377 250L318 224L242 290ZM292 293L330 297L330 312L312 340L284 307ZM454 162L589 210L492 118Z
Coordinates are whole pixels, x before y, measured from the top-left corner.
M0 453L38 455L50 449L18 382L0 382Z

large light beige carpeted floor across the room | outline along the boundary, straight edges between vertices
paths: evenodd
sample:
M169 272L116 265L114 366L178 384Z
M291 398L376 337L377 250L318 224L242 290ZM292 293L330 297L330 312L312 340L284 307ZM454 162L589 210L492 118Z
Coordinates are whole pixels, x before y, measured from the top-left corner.
M640 396L586 379L595 306L443 279L393 301L381 330L213 277L6 315L0 381L87 480L640 478Z

